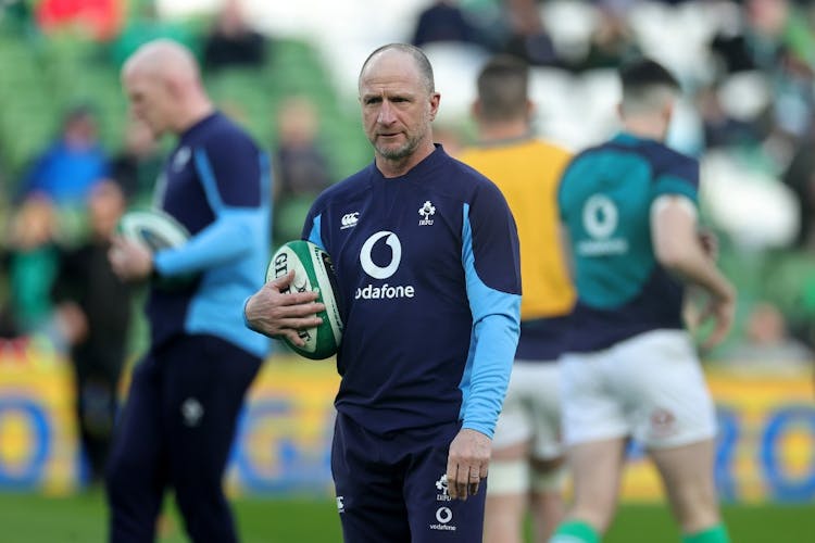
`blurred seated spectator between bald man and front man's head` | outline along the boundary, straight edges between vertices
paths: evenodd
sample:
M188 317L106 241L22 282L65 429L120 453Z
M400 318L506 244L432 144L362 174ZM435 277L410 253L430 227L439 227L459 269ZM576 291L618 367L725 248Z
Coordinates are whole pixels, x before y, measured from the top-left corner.
M317 111L311 100L294 96L283 101L272 161L275 167L276 243L300 238L300 226L309 207L334 181L317 132Z

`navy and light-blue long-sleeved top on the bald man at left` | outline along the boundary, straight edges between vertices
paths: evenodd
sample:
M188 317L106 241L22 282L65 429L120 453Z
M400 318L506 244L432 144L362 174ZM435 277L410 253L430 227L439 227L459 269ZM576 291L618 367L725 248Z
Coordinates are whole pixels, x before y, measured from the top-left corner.
M191 233L155 254L165 277L196 274L185 287L153 283L147 304L153 345L179 333L209 333L263 356L269 341L243 325L243 301L263 286L269 260L267 156L221 113L181 134L154 193L156 207Z

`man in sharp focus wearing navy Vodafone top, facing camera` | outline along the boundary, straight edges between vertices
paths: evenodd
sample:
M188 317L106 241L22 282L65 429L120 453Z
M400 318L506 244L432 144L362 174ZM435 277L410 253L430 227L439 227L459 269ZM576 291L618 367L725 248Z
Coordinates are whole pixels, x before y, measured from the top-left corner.
M517 344L515 223L500 190L434 144L430 63L374 51L359 78L374 163L314 202L302 237L337 270L344 324L331 471L349 542L481 540L490 439ZM314 293L248 300L248 325L302 344ZM392 295L391 295L392 294Z

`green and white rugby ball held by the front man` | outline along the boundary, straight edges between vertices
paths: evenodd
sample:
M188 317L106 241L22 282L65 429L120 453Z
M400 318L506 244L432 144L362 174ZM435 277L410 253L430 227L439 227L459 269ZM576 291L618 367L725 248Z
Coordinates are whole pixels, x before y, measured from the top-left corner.
M323 324L300 330L300 338L305 345L299 346L284 338L289 348L301 356L313 361L328 358L337 353L342 339L342 319L335 292L336 276L331 257L321 248L305 240L284 243L268 263L266 282L284 277L294 270L294 279L283 292L306 292L316 290L317 302L325 305L325 311L317 313Z

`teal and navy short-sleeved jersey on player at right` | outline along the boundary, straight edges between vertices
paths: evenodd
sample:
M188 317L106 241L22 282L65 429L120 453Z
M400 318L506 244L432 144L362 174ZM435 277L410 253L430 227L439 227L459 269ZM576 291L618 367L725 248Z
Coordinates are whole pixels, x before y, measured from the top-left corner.
M684 327L684 287L656 261L651 206L665 194L695 204L698 190L698 161L655 140L622 132L575 156L559 194L577 287L569 351Z

